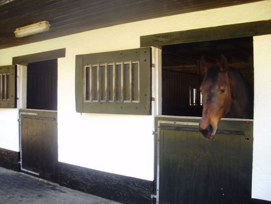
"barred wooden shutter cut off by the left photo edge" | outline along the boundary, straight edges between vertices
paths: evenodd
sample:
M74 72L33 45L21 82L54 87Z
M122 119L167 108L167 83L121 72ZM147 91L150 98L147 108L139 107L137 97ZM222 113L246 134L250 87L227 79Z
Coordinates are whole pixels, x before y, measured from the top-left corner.
M0 67L0 108L16 108L16 67Z

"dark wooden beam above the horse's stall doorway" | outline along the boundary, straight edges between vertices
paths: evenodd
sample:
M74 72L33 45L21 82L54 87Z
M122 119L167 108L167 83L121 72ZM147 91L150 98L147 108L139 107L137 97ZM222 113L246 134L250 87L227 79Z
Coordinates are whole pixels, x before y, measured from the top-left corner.
M214 41L268 34L271 34L271 20L141 36L140 47Z

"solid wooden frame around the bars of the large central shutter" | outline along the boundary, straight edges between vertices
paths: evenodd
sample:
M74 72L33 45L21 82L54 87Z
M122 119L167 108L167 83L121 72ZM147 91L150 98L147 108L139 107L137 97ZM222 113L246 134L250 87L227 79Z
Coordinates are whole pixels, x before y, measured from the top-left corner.
M151 48L136 48L76 55L75 57L75 101L78 113L151 115ZM90 65L138 61L138 101L86 101L85 68ZM130 64L131 65L131 64ZM131 74L130 74L131 75ZM97 78L96 78L97 79ZM131 80L131 76L130 76ZM130 87L131 88L131 87ZM123 91L123 90L122 90ZM131 96L131 95L130 95Z

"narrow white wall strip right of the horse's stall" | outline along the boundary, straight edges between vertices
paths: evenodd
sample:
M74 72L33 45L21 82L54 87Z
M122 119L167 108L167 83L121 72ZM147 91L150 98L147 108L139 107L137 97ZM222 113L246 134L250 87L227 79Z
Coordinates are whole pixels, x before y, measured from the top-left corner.
M252 197L271 201L271 35L253 38L254 126Z

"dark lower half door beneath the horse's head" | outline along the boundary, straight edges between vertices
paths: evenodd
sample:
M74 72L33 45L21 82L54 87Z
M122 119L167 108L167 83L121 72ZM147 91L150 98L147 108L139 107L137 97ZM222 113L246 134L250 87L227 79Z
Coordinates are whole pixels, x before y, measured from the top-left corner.
M252 121L222 120L213 140L199 121L156 119L157 203L250 204Z

